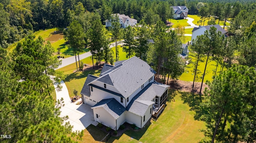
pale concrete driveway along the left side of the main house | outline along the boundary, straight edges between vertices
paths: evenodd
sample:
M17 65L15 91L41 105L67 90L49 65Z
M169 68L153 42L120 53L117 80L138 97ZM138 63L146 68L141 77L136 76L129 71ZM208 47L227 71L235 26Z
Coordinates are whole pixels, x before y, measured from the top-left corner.
M91 106L87 104L76 105L76 102L72 103L68 94L68 88L63 80L60 82L60 85L62 86L62 90L58 91L56 88L57 85L54 84L56 100L64 99L64 106L60 108L60 117L68 116L65 122L69 121L70 125L73 126L72 131L84 130L90 124L97 125L98 122L94 121ZM81 99L79 101L81 101Z

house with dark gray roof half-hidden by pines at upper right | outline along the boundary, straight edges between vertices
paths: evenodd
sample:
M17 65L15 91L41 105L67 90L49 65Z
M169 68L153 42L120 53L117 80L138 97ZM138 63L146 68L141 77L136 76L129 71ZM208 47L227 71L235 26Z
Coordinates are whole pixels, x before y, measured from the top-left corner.
M194 27L194 29L192 30L192 38L191 38L191 45L193 44L193 39L196 39L197 36L199 35L203 35L204 31L206 30L210 30L210 27L216 27L217 32L220 31L221 34L225 34L226 35L226 31L220 26L220 25L208 25L208 26L199 26L199 27Z

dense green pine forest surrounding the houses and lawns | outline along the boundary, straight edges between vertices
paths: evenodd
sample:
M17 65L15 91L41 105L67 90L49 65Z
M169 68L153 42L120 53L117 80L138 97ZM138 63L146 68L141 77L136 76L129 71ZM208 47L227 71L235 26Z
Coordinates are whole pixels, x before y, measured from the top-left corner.
M64 38L74 55L78 55L78 63L79 54L88 47L92 62L96 61L93 65L97 66L102 61L118 61L117 47L113 57L108 45L110 32L113 42L124 40L126 57L135 55L146 61L157 72L155 80L168 84L169 77L176 80L184 72L184 62L178 57L184 28L172 30L166 21L172 18L171 6L183 5L189 14L200 16L209 25L230 22L229 27L224 23L226 37L211 28L189 47L196 59L192 63L192 93L195 82L205 82L208 60L217 63L213 81L206 82L209 88L202 91L201 86L198 93L198 110L202 113L198 119L206 122L205 138L200 142L255 142L254 0L1 0L0 134L12 137L0 141L70 143L83 134L72 133L72 127L64 124L67 117L59 117L63 102L55 103L50 94L53 83L59 83L65 75L54 70L61 61L53 56L51 43L40 36L36 38L35 31L65 28ZM118 19L112 17L115 13L137 19L140 26L121 29ZM113 26L106 29L108 19L112 19ZM10 52L8 47L22 38ZM197 69L200 63L205 63L204 71ZM82 66L76 65L77 71Z

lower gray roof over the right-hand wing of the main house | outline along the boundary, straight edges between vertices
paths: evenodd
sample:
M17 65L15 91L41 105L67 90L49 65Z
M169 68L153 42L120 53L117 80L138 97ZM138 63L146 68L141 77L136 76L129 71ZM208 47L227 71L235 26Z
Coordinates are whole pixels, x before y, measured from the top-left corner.
M126 110L132 112L138 116L144 116L148 106L151 106L155 102L151 100L155 96L162 96L166 88L169 86L158 82L151 82L145 88L143 88L128 104Z

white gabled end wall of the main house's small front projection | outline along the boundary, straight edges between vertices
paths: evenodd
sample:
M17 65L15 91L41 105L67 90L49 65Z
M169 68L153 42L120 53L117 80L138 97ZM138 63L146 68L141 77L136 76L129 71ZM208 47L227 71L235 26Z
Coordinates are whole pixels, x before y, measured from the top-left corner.
M116 119L111 116L104 108L93 108L94 120L96 121L96 114L99 116L99 122L103 125L111 127L116 130Z

